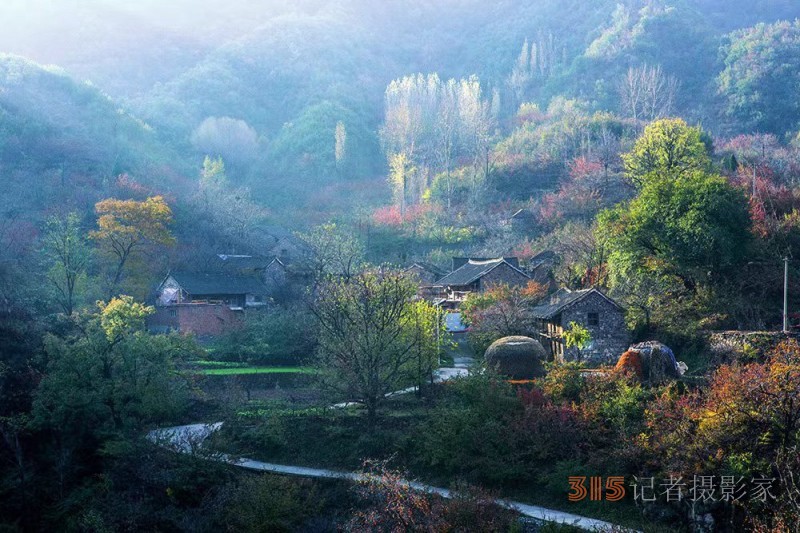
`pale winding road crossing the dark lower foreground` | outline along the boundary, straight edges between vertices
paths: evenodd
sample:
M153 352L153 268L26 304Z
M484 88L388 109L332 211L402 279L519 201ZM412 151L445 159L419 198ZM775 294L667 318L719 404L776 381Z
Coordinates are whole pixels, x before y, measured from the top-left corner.
M186 426L176 426L171 428L162 428L151 431L147 438L159 446L169 448L178 453L198 453L201 450L203 441L207 439L212 433L222 427L221 422L214 424L190 424ZM227 454L206 455L209 460L220 461L228 463L240 468L249 470L257 470L260 472L273 472L276 474L285 474L291 476L302 476L311 478L329 478L329 479L347 479L351 481L359 481L365 478L365 474L357 472L341 472L337 470L326 470L322 468L307 468L303 466L279 465L274 463L265 463L253 459L235 458ZM441 487L433 487L424 483L417 483L415 481L407 481L408 485L414 489L431 494L438 494L444 498L450 498L451 493L448 489ZM544 520L547 522L555 522L558 524L574 525L590 531L630 531L621 528L619 525L597 520L595 518L588 518L572 513L563 511L556 511L554 509L547 509L539 507L538 505L528 505L521 502L511 500L497 500L499 505L514 509L523 516L535 518L537 520Z

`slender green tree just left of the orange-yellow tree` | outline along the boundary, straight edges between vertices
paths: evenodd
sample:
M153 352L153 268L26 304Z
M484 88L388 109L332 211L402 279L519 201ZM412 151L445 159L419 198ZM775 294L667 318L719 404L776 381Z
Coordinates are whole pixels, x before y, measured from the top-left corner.
M63 218L50 217L42 236L42 245L50 265L47 279L56 290L56 299L64 314L71 315L89 261L89 250L78 213L69 213Z

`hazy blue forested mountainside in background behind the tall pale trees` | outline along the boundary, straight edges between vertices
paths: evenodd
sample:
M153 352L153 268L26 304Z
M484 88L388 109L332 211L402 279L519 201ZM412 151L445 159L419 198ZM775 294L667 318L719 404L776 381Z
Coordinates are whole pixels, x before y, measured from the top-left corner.
M489 13L480 2L463 0L411 8L350 1L263 9L234 3L222 10L209 3L205 19L202 6L101 5L72 12L48 8L37 18L18 13L15 7L21 8L12 2L4 8L10 16L3 44L58 64L79 85L88 79L108 91L115 100L110 107L142 120L162 146L179 154L180 173L194 179L197 172L189 169L199 169L205 155L222 156L233 179L249 185L271 208L302 202L309 185L319 189L385 175L379 138L384 89L393 79L418 72L438 73L443 80L477 76L484 97L495 100L495 142L513 131L521 104L546 109L557 97L574 99L589 114L639 120L676 114L712 134L782 136L795 126L785 123L787 113L780 109L788 104L777 103L786 99L776 96L771 103L748 94L763 80L744 59L736 59L745 49L770 53L764 47L775 37L746 28L792 20L796 13L789 1L746 7L711 1L507 2L494 4ZM154 9L162 19L146 22ZM452 13L458 16L448 16ZM16 24L11 15L19 17ZM41 39L12 31L26 20L36 20ZM48 35L73 20L80 22L80 33L70 35L88 44L52 46ZM125 40L124 25L136 27L136 46ZM648 75L629 69L645 66L647 72L657 69L657 81L665 85L657 99L663 102L638 102L644 95L623 94L624 80L636 83L636 76ZM732 72L747 81L726 81ZM20 86L6 97L27 98L24 91L34 89L35 83ZM20 112L33 112L19 104ZM36 112L44 114L39 120L61 118L48 106ZM222 121L227 118L233 121ZM94 123L102 119L89 115L82 122L99 131ZM333 140L338 122L348 148L339 162ZM128 157L154 159L146 145L139 151L143 154ZM126 155L121 162L111 156L115 162L108 172L144 179L132 172L138 169L127 165Z

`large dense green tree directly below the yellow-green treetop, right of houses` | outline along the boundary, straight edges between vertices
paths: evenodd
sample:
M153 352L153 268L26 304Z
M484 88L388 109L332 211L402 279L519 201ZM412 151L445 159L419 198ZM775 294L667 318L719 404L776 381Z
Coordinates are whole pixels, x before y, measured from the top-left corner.
M630 202L602 212L597 231L612 285L673 278L692 293L729 274L751 240L743 192L699 171L654 178Z

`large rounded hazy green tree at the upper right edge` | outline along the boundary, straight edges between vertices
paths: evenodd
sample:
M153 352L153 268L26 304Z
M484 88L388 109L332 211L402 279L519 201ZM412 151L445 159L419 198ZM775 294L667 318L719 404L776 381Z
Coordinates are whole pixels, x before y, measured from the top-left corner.
M722 47L717 78L728 115L755 132L784 134L800 116L800 21L758 24L733 32Z

